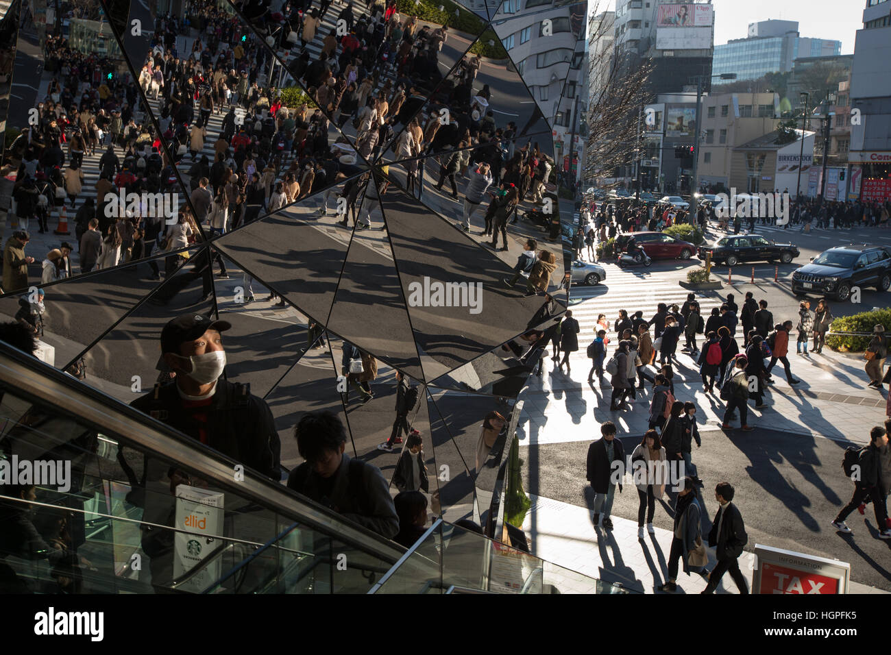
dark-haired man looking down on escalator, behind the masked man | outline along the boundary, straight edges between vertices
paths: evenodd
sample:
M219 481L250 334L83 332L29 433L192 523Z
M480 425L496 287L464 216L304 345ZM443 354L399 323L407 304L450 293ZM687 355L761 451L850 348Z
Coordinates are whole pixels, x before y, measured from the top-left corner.
M370 463L344 451L347 431L331 412L308 412L294 429L306 462L290 471L288 487L388 539L399 531L387 480Z

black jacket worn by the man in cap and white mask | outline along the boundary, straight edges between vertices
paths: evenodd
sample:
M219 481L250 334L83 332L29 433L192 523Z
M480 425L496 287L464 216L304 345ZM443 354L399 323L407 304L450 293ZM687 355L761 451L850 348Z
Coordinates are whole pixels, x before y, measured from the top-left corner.
M201 424L193 418L196 412L183 406L176 381L156 386L130 405L192 438L199 438ZM273 413L262 398L250 394L250 385L220 378L210 405L200 407L200 413L208 417L205 427L208 446L274 480L281 479L281 441Z

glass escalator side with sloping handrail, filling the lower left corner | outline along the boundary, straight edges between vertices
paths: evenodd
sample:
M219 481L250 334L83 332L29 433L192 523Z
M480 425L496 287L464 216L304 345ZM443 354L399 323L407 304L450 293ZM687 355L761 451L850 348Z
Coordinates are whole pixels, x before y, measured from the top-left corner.
M0 592L366 593L405 553L4 344L0 460Z

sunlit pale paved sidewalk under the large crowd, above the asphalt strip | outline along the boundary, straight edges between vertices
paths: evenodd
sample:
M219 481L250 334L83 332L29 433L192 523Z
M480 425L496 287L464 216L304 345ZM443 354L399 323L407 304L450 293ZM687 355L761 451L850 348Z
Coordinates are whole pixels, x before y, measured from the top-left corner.
M562 373L552 359L544 360L542 378L533 376L520 395L524 401L518 425L520 446L553 444L566 441L590 441L600 436L601 422L616 423L620 433L642 435L648 428L652 385L637 392L630 401L631 410L609 411L609 376L603 383L589 384L590 360L584 355L586 344L569 357L571 375ZM699 408L699 431L720 430L725 403L718 389L707 394L702 389L699 371L686 353L678 353L681 365L674 364L674 396L691 400ZM782 365L772 370L774 383L765 394L765 405L748 405L749 424L785 430L796 434L852 441L869 441L872 426L886 418L886 391L866 387L868 382L862 360L855 355L832 352L808 357L789 355L793 375L801 382L794 387L786 381ZM655 373L652 367L650 374ZM731 425L739 430L739 418Z

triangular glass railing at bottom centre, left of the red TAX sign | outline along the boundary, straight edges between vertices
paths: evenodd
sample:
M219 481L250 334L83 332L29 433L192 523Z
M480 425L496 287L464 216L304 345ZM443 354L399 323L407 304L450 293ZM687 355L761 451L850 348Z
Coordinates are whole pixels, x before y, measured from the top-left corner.
M437 520L372 594L627 594L476 532Z

